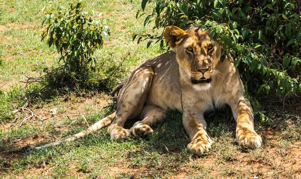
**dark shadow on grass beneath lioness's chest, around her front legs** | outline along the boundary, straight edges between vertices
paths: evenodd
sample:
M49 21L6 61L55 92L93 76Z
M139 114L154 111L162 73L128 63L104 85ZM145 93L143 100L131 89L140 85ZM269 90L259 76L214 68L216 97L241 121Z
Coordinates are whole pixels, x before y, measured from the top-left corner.
M231 133L234 140L236 122L230 107L206 113L205 120L207 122L207 132L211 138L220 138L224 133ZM125 127L130 128L136 121L129 121ZM187 145L191 141L182 123L182 113L169 111L167 118L152 126L152 128L154 130L153 135L144 139L147 144L144 150L165 154L188 152Z

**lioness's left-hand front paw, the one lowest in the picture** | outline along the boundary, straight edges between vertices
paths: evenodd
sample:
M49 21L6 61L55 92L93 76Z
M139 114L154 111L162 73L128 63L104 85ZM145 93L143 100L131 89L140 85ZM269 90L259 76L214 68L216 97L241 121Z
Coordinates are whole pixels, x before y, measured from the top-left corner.
M191 143L188 144L187 148L189 151L200 156L204 152L208 152L211 148L213 141L209 138L207 134L201 134L198 137L195 137Z

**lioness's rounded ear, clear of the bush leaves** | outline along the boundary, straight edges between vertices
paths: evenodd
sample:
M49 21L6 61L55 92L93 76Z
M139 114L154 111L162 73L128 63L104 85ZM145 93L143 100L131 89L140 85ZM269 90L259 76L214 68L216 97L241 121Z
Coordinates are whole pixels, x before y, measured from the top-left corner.
M168 45L174 48L182 41L186 33L177 26L168 26L165 28L163 35Z

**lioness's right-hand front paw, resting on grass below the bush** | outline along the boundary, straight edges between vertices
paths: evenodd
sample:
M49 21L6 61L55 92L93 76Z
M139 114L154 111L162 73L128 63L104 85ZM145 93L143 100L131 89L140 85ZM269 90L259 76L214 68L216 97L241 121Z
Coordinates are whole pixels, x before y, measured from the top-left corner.
M255 131L239 129L236 131L235 141L243 147L258 148L261 146L261 137Z

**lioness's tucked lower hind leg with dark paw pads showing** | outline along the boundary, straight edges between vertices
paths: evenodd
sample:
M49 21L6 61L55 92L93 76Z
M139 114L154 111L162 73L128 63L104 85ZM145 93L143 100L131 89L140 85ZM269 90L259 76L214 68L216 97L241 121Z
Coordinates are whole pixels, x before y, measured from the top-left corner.
M150 126L162 121L165 117L165 109L157 105L145 105L140 114L140 118L143 120L136 122L130 130L134 136L145 138L147 135L153 134Z

